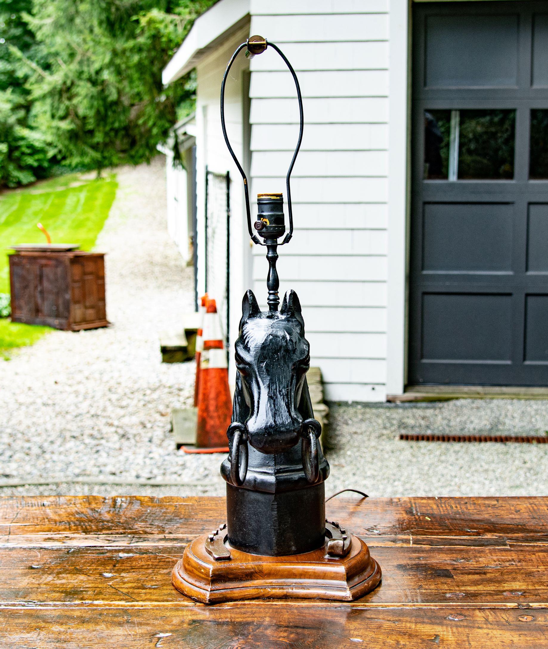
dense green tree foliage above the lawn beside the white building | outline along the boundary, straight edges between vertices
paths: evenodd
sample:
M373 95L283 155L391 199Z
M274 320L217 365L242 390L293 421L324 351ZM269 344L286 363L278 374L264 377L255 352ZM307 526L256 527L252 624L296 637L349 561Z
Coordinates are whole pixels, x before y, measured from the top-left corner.
M161 71L213 1L0 0L0 185L150 160L194 93Z

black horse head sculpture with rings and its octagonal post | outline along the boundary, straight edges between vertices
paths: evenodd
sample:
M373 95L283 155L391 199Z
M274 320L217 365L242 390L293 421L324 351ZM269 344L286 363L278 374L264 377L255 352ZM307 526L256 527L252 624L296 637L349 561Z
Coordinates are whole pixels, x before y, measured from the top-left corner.
M235 360L238 373L232 424L227 432L230 454L221 466L221 474L228 482L229 503L232 501L233 509L239 510L233 511L233 516L241 519L238 524L235 519L231 522L229 506L230 542L257 554L305 551L302 548L307 543L320 543L323 539L323 482L329 474L329 465L318 443L322 429L314 419L306 382L310 348L304 335L300 302L294 291L286 293L280 312L262 312L252 291L247 291L235 343ZM276 535L280 532L279 536L287 536L291 528L288 524L293 505L287 506L287 502L297 490L302 490L301 498L310 499L309 509L317 512L315 535L302 541L293 538L289 542L287 539L281 541ZM304 496L303 490L308 496ZM255 492L255 496L250 492ZM270 510L261 509L261 494L257 492L270 496L270 508L272 498L278 498L277 512L289 507L283 533L280 526L274 526L270 535L265 535L273 539L274 545L262 550L261 539L257 538L255 543L244 542L245 534L237 529L245 528L248 536L254 533L249 526L250 511L245 515L246 507L255 511L261 524L265 524ZM294 502L294 515L298 517L307 504L298 499ZM258 511L263 513L259 515Z

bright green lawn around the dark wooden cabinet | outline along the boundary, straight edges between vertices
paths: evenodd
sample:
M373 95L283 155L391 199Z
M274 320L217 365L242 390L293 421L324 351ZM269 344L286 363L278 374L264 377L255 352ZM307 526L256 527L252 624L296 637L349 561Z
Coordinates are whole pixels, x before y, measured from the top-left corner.
M0 293L9 293L8 252L21 243L45 243L36 227L42 223L53 243L79 243L91 250L110 212L116 194L114 175L84 180L70 174L6 191L0 196ZM10 323L0 319L0 358L10 350L32 345L48 327Z

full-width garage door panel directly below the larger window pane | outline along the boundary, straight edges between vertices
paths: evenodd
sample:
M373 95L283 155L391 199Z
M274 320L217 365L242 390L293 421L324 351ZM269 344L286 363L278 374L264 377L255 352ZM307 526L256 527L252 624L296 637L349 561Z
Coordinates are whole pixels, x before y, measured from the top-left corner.
M427 203L423 271L511 272L512 212L508 203Z

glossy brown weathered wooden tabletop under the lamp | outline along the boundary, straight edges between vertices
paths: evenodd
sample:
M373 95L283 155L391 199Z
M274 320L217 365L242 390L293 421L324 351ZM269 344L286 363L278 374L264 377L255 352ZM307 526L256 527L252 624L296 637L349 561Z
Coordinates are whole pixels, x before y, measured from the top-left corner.
M224 498L0 498L0 646L548 647L548 498L334 498L383 582L357 602L205 606L171 569Z

